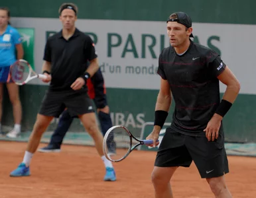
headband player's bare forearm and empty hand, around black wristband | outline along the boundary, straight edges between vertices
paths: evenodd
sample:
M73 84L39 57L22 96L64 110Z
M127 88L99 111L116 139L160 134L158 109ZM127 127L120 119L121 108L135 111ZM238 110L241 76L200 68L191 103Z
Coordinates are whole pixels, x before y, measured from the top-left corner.
M85 76L86 76L86 73L88 75L86 79L89 79L90 77L92 77L97 72L98 69L99 69L99 63L97 58L92 59L90 61L90 65L88 69L86 69L86 72L85 72ZM73 90L79 90L80 88L82 88L82 86L84 86L84 84L86 84L86 81L82 77L79 77L78 79L76 79L75 82L73 82L73 84L71 84L70 87Z

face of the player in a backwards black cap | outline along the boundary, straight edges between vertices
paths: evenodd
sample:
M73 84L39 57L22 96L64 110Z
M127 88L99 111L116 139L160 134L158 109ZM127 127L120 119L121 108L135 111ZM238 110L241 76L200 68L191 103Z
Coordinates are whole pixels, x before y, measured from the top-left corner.
M186 30L186 26L176 21L167 22L167 34L170 39L170 45L174 48L182 46L182 44L188 40L191 32L192 28Z

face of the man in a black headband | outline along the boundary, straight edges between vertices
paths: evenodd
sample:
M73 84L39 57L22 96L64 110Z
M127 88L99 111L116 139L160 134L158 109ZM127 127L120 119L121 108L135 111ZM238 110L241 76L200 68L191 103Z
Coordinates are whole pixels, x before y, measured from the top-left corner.
M77 16L71 9L64 9L60 15L63 28L70 30L74 28Z

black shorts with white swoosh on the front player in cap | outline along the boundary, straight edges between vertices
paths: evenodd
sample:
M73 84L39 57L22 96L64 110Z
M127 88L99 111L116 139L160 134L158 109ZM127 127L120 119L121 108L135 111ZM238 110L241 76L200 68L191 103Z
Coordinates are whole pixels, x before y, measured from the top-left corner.
M216 141L206 137L194 137L166 129L157 152L155 166L189 167L192 160L196 164L201 178L216 178L229 172L227 154L224 147L224 135Z

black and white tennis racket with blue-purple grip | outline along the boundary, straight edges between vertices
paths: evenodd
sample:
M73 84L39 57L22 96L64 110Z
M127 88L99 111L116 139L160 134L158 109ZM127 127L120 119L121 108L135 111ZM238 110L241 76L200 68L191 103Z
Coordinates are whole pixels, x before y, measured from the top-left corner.
M135 142L134 142L135 141ZM103 152L112 162L124 160L139 145L151 145L153 140L139 140L131 132L121 126L113 126L107 130L103 139Z

